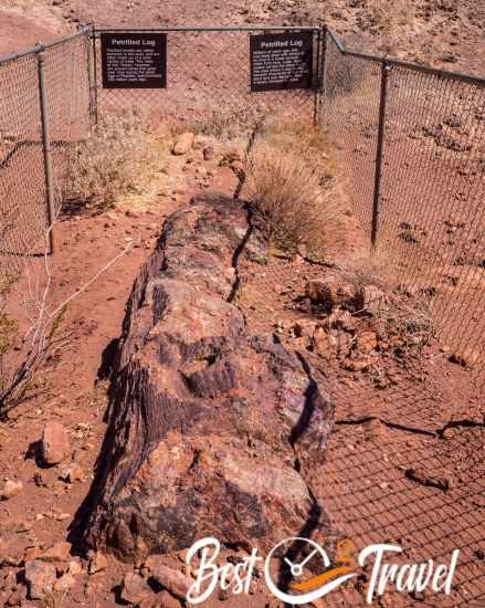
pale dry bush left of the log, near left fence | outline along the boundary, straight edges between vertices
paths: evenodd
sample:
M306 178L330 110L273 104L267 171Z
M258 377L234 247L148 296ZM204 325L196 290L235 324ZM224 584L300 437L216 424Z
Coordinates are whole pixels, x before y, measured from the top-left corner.
M123 195L143 193L159 170L159 156L140 116L130 109L107 114L72 150L63 199L110 206Z

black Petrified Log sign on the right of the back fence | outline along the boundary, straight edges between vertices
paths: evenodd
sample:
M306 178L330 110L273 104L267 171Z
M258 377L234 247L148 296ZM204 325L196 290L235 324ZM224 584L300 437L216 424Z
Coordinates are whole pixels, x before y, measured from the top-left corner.
M251 91L312 88L313 32L250 36Z

